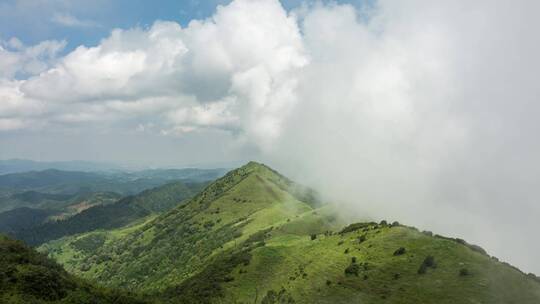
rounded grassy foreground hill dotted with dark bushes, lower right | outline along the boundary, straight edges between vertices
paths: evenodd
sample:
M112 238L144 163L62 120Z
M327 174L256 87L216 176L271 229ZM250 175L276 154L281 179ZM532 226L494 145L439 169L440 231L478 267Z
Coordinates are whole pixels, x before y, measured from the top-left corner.
M399 248L404 253L394 254ZM222 283L226 302L277 299L281 290L282 299L295 303L540 301L540 283L531 277L463 244L408 227L370 225L311 240L287 232L285 225L251 256ZM435 265L422 273L429 256Z

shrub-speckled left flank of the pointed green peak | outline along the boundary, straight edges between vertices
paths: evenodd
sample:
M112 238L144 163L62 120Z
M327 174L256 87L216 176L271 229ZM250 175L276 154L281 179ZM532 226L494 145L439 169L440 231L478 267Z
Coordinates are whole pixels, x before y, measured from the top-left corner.
M212 183L188 204L104 242L95 252L79 254L69 265L75 273L111 286L148 291L173 286L250 234L311 210L286 191L289 183L267 167L249 164ZM69 252L65 247L72 247L70 241L48 250L67 262L62 253ZM89 264L93 256L106 262Z

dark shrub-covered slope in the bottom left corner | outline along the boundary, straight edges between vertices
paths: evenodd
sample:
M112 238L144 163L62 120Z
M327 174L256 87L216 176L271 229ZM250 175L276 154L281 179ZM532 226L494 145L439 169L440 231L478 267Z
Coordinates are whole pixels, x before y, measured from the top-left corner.
M123 292L96 287L20 241L0 235L0 303L144 303Z

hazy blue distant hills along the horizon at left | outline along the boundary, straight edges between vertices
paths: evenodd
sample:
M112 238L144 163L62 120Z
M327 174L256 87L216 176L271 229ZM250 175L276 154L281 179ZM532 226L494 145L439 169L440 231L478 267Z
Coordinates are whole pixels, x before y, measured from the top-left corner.
M173 181L214 180L224 169L155 169L137 172L77 172L48 169L0 175L0 212L20 207L62 209L95 193L133 195Z

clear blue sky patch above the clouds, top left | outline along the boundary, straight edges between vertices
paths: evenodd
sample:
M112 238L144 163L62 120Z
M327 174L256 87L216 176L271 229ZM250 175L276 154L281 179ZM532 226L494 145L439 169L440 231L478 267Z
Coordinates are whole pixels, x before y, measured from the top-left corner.
M69 52L79 45L92 46L108 36L113 28L146 27L156 20L170 20L186 26L192 19L213 14L218 5L231 0L2 0L0 1L0 40L17 37L26 45L43 40L66 40ZM290 10L303 0L282 0ZM307 1L313 2L313 1ZM369 1L325 1L359 6Z

